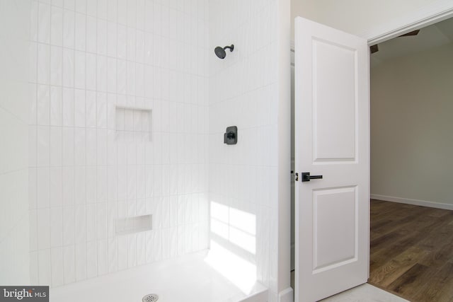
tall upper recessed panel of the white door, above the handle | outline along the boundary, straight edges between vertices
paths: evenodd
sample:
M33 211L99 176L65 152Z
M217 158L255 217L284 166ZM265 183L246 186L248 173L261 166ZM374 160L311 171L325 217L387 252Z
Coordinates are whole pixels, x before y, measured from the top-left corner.
M314 161L354 161L356 52L314 39L313 54Z

